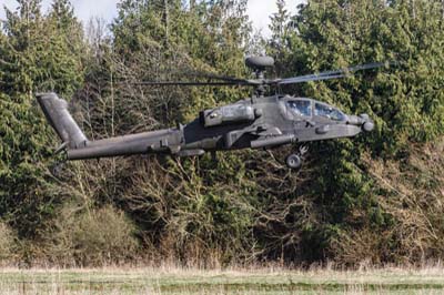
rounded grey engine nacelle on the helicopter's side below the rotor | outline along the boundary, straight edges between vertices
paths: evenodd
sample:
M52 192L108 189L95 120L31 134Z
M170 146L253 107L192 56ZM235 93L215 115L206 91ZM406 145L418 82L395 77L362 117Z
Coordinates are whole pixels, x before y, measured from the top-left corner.
M212 110L205 110L200 114L201 123L205 128L245 123L255 120L254 109L245 104L230 104Z

